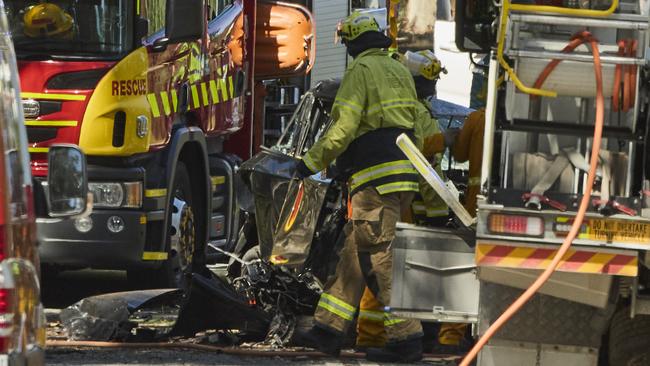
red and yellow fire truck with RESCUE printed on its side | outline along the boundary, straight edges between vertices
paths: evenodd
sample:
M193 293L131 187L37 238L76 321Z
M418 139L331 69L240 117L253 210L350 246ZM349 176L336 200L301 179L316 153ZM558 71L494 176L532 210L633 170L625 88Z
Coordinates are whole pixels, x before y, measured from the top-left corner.
M48 147L78 144L94 197L90 216L39 215L43 263L178 286L204 267L208 241L238 236L235 172L263 128L255 91L309 71L309 11L255 0L5 4L37 185Z

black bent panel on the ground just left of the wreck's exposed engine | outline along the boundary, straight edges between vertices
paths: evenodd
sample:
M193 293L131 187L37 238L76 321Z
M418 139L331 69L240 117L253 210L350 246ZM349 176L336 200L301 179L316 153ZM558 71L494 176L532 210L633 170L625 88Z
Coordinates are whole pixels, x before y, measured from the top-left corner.
M264 339L271 318L246 302L219 278L192 274L189 292L171 336L194 336L206 329L230 329Z

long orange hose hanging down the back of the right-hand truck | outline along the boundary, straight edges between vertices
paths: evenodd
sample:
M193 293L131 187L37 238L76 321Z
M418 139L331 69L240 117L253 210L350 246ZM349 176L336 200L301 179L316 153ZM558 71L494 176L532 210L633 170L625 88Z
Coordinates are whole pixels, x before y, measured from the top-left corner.
M589 174L587 175L587 184L585 186L585 191L580 201L580 207L576 218L571 225L571 230L569 234L564 239L564 242L558 249L557 254L553 257L553 260L544 272L535 280L535 282L515 301L513 302L506 311L501 314L501 316L488 328L483 337L481 337L476 345L471 349L471 351L465 356L460 366L469 366L469 364L476 358L478 353L481 351L483 346L494 336L494 334L512 317L517 311L521 309L535 293L544 285L544 283L549 279L551 274L559 266L562 257L566 254L571 247L571 243L575 239L580 227L582 226L582 221L585 218L585 213L587 208L589 208L591 201L591 191L594 185L594 180L596 178L596 168L598 167L598 154L600 152L600 144L603 134L603 124L605 120L605 98L603 95L603 75L602 75L602 66L600 64L600 51L598 50L598 42L592 36L587 37L587 40L591 43L591 51L594 56L594 73L596 76L596 122L594 126L594 139L593 146L591 149L591 159L589 166Z

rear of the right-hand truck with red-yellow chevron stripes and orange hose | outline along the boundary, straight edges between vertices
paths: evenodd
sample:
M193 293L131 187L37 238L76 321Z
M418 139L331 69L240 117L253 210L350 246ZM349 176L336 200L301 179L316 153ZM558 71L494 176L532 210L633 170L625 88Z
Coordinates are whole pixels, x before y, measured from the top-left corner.
M456 2L458 48L490 58L481 195L457 215L475 235L401 225L394 312L474 323L480 366L649 364L649 20L637 0Z

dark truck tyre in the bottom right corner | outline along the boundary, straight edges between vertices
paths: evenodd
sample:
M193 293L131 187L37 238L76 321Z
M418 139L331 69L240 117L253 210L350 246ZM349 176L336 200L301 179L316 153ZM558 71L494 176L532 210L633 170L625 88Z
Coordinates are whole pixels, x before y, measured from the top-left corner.
M609 328L609 366L650 365L650 315L619 309Z

